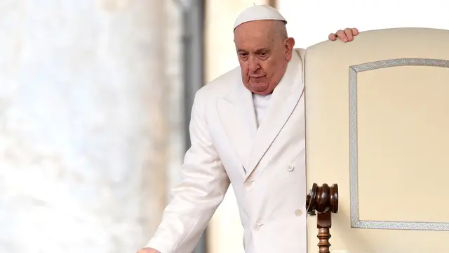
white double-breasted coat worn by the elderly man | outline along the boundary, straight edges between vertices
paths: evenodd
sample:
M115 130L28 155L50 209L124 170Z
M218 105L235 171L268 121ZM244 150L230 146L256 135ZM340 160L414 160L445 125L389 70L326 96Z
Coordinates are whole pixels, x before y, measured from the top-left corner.
M232 183L246 253L306 253L304 50L295 49L257 129L240 67L194 99L182 182L147 247L191 253Z

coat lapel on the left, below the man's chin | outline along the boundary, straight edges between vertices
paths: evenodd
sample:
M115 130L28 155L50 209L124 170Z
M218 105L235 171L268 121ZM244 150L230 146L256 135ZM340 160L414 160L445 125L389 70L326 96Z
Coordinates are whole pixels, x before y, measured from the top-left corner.
M239 72L240 73L240 72ZM217 112L229 142L247 170L248 157L257 131L253 94L236 77L231 92L217 98Z

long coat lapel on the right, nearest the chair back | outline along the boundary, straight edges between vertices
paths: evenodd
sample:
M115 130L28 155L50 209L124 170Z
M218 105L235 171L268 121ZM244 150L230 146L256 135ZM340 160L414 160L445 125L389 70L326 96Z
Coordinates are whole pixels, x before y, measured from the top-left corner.
M272 145L276 136L286 124L304 91L302 78L302 59L298 51L293 51L293 57L288 63L286 74L282 77L269 101L267 114L264 116L250 153L246 176L250 176L257 164Z

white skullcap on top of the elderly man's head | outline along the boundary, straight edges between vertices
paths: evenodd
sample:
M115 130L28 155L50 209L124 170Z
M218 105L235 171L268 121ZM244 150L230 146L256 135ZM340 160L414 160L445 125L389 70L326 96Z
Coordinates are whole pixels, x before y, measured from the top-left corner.
M272 6L255 5L246 8L240 13L240 15L236 19L236 22L234 23L234 30L236 30L236 27L243 24L244 22L256 20L280 20L287 24L287 20L283 18L281 13L279 13L279 11L277 11Z

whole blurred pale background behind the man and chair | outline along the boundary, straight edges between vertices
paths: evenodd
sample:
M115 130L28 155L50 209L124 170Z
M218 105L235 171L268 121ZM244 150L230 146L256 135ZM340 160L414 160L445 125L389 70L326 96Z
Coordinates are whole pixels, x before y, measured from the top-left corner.
M345 27L449 30L445 0L2 0L0 253L144 246L194 93L238 65L232 27L253 4L278 8L301 48ZM225 252L243 253L232 188L195 250Z

